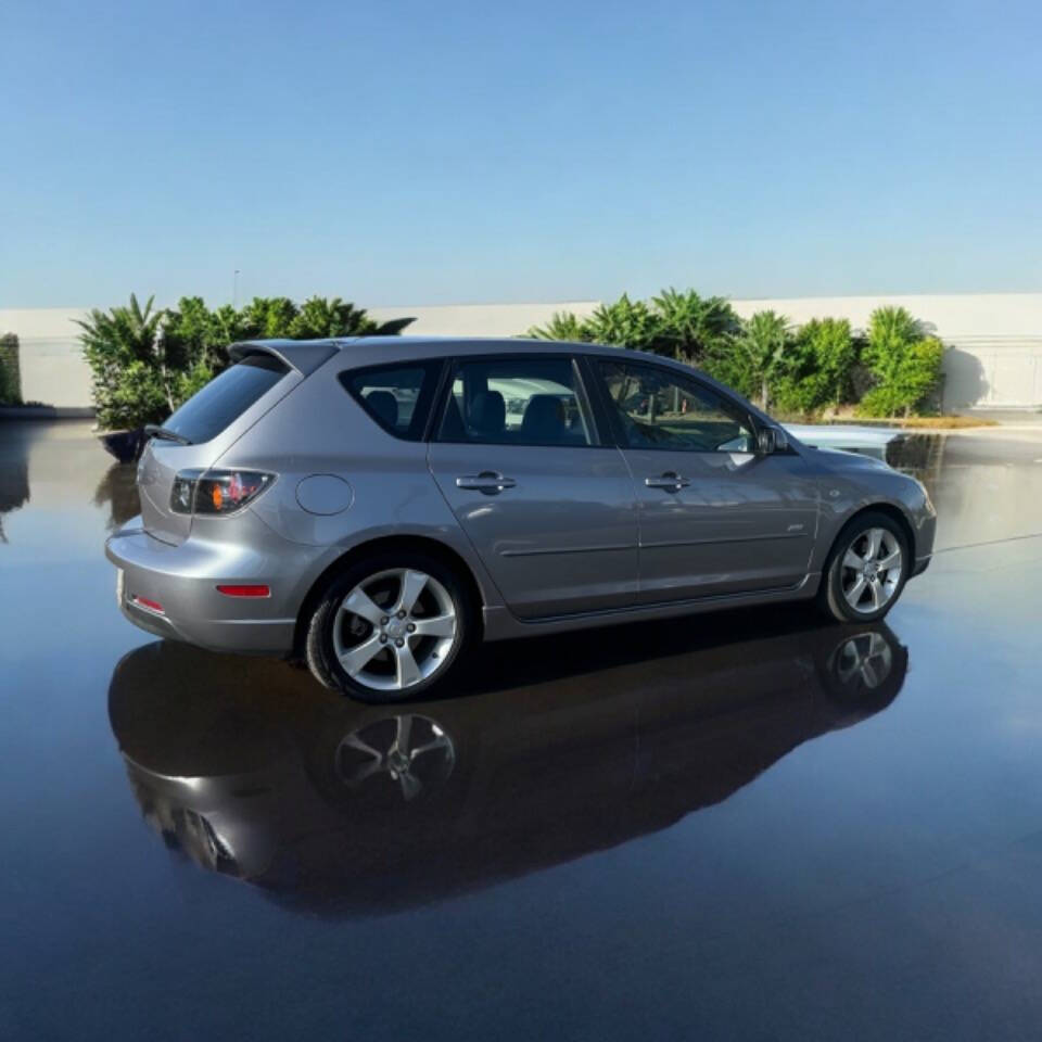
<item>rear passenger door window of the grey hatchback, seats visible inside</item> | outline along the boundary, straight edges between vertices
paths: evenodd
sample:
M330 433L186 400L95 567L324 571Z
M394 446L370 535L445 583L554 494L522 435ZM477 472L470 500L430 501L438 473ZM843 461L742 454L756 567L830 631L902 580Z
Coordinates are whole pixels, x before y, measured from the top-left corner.
M453 373L443 442L593 445L593 420L571 358L463 359Z

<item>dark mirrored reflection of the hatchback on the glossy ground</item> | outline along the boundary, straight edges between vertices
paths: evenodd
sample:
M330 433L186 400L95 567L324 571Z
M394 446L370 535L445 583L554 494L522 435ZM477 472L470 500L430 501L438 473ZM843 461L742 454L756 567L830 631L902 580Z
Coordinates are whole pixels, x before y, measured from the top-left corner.
M650 684L645 663L592 661L579 681L397 712L300 671L156 643L116 668L109 713L167 846L288 898L392 911L719 803L885 709L906 669L881 625L713 636L657 663Z

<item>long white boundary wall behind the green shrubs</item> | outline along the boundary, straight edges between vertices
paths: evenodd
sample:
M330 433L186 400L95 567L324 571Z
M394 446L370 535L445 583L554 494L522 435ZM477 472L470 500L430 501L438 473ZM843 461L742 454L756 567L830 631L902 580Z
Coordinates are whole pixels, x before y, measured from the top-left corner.
M945 344L944 405L1042 406L1042 293L822 296L734 301L739 315L773 308L793 323L848 318L864 328L882 305L902 305L927 322ZM596 301L558 304L467 304L444 307L378 307L374 318L415 316L409 332L445 336L514 336L546 322L555 312L589 315ZM55 406L90 403L90 373L76 342L73 319L81 309L0 309L0 332L21 341L22 394Z

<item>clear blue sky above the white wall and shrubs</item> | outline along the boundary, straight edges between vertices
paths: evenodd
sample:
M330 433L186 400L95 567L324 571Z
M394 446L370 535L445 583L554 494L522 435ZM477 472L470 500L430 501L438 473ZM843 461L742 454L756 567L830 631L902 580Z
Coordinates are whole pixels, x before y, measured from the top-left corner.
M1042 8L0 8L0 307L1042 289Z

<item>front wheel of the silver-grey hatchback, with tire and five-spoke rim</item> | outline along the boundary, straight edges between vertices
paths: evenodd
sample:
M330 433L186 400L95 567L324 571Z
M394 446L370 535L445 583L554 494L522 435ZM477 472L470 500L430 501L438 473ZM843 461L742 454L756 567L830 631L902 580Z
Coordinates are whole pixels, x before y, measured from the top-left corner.
M873 541L878 543L872 555ZM881 568L887 560L895 567ZM851 556L848 556L851 555ZM860 560L863 569L851 567ZM866 510L853 518L836 537L817 594L821 610L837 622L875 622L897 603L912 567L907 537L889 514ZM859 577L862 585L857 585Z

